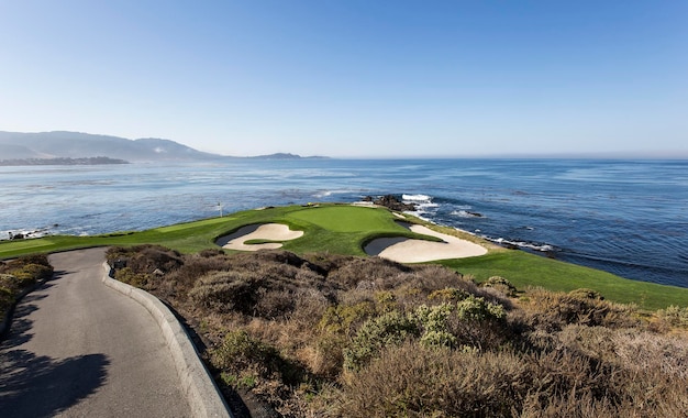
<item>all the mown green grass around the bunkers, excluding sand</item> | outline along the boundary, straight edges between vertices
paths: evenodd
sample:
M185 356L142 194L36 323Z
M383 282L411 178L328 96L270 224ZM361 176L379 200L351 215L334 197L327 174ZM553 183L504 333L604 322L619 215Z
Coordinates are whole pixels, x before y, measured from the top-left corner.
M278 222L292 230L304 231L296 240L285 241L284 249L298 254L329 252L344 255L365 255L366 242L380 237L420 235L395 222L386 209L322 205L318 207L279 207L247 210L223 218L155 228L141 232L119 232L96 237L53 235L42 239L0 242L0 260L30 253L49 253L103 245L159 244L182 253L217 248L218 238L241 227L254 223ZM446 232L447 230L444 230ZM431 238L430 238L431 239ZM475 238L470 238L475 240ZM519 289L541 286L568 292L587 287L619 302L634 302L644 309L669 305L688 306L688 289L629 280L612 274L528 254L522 251L490 250L480 257L448 260L440 264L478 280L502 276Z

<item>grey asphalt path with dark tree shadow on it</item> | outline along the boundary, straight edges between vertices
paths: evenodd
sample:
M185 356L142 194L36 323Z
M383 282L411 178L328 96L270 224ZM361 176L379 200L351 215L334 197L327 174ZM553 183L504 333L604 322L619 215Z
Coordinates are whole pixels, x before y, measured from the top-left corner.
M0 417L189 417L148 311L101 283L104 250L51 255L0 343Z

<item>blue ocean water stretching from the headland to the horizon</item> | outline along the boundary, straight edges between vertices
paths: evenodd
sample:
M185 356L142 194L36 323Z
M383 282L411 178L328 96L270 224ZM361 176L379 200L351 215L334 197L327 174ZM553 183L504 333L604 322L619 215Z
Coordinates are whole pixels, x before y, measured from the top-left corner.
M688 287L688 162L240 160L0 167L9 232L143 230L263 206L396 194L434 222L617 275Z

